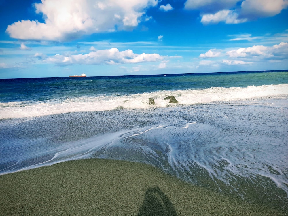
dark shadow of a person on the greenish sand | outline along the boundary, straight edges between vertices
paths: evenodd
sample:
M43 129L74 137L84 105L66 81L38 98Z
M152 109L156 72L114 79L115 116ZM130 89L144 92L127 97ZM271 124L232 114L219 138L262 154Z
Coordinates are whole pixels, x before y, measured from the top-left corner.
M172 202L159 187L148 188L137 216L177 216Z

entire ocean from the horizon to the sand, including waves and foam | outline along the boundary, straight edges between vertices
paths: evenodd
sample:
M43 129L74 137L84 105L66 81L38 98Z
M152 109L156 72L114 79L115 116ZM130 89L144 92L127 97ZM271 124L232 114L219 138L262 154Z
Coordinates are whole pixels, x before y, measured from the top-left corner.
M287 117L288 70L0 79L0 175L128 160L288 211Z

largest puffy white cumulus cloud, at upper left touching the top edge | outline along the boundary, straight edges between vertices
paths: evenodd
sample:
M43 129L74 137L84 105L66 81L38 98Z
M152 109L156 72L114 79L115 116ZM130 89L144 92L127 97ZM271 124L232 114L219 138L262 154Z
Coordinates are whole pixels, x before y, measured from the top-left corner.
M8 25L6 32L22 40L69 40L135 27L145 9L157 4L158 0L42 0L35 8L43 14L44 23L21 20Z

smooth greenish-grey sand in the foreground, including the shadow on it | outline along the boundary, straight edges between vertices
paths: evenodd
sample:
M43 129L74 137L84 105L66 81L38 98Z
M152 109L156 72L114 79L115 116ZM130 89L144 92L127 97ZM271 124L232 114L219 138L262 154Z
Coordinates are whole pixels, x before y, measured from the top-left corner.
M0 176L0 215L284 215L147 164L74 160Z

